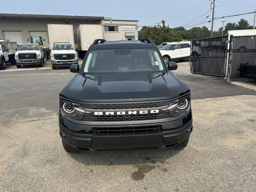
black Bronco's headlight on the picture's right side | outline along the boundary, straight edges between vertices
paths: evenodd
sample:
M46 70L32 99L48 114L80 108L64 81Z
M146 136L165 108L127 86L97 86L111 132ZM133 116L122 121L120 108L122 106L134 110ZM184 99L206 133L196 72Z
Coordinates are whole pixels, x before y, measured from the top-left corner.
M190 107L190 100L188 97L173 100L170 102L168 110L170 116L176 116L186 111Z

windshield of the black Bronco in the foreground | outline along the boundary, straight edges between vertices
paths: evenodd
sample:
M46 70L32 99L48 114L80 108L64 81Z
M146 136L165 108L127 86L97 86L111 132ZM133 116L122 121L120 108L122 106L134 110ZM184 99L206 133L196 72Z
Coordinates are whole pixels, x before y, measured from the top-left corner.
M84 72L162 72L164 64L156 49L90 50Z

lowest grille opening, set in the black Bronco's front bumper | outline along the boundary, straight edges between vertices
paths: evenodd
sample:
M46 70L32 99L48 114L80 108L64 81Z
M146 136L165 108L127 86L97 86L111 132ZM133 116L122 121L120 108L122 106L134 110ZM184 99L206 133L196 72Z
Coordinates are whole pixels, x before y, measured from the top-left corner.
M162 126L94 127L94 136L145 135L162 133Z

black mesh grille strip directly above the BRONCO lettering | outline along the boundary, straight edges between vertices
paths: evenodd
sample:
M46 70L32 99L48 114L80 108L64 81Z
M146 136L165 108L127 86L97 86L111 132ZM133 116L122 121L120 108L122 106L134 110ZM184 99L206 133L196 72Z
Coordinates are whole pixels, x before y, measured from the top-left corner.
M160 107L160 102L92 104L93 109L139 109Z

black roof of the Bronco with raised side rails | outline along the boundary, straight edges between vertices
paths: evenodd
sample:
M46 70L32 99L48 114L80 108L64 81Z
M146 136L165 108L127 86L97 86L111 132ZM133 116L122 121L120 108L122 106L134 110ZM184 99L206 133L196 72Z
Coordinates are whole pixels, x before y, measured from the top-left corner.
M144 41L146 40L146 41ZM98 43L101 41L101 43ZM94 40L89 49L125 49L125 48L156 48L150 39L144 38L138 41L106 41L106 40Z

